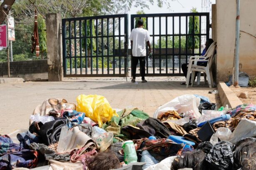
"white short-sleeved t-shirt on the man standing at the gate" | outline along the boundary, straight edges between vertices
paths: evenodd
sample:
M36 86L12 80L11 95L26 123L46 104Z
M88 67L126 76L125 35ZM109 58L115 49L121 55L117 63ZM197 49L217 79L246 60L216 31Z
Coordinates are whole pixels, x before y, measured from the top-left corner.
M132 41L132 56L146 56L146 42L150 39L148 30L143 28L132 29L129 39Z

